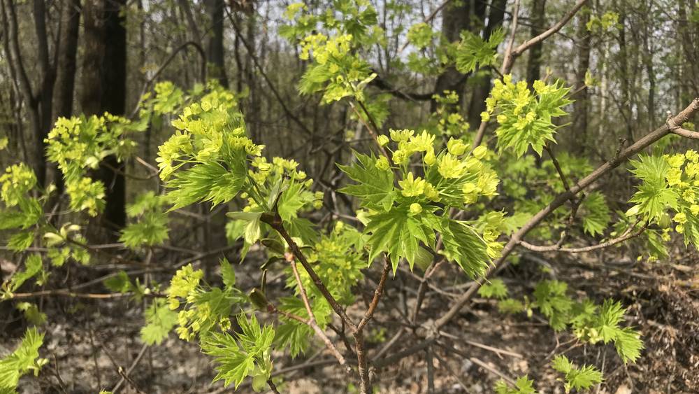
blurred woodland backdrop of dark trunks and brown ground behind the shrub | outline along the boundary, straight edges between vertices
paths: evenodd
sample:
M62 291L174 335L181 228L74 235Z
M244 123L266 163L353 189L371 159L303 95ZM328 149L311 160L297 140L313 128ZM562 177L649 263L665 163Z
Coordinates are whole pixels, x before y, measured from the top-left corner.
M305 3L311 10L327 6L324 1ZM481 70L464 75L447 69L433 78L418 76L405 66L407 31L412 24L426 21L452 41L459 39L462 30L487 37L512 24L512 1L372 3L386 31L387 45L377 45L371 54L377 78L370 90L387 97L386 127L401 129L426 122L437 109L433 94L454 90L459 94L459 112L472 131L477 129L496 73ZM572 7L571 1L562 0L522 0L518 4L518 42L540 34ZM299 48L280 36L288 5L287 1L262 0L1 0L0 139L7 146L0 150L0 166L30 163L42 184L55 183L60 189L61 178L47 164L43 143L58 117L104 111L129 116L135 113L141 95L157 81L170 80L189 88L206 76L243 92L242 111L254 141L265 143L271 155L298 161L319 190L336 190L345 178L333 163L345 162L352 148L366 149L371 141L352 120L347 105L321 105L320 97L297 94L296 85L307 64L299 59ZM613 27L590 29L589 22L605 13L618 14ZM570 85L575 104L565 120L570 126L559 134L556 149L602 162L620 146L661 125L666 111L674 113L699 97L698 41L696 0L593 0L561 31L526 52L512 73L529 81L552 74ZM138 137L138 160L154 164L157 147L168 136L160 125L151 125ZM103 164L98 176L109 187L107 207L93 223L95 241L106 245L103 259L80 272L69 272L66 283L99 284L104 272L120 264L113 257L119 249L108 246L115 242L113 230L126 222L124 204L146 188L161 187L157 176L150 176L144 168L135 160ZM633 183L621 171L598 188L621 201L633 193ZM324 204L326 213L340 217L350 207L345 195L334 192ZM160 251L155 260L217 251L235 256L236 248L226 241L223 213L206 207L178 212L170 248ZM647 351L638 365L607 366L608 380L599 392L696 392L698 256L680 244L663 262L637 266L635 255L633 246L576 255L575 260L555 253L530 253L520 265L508 268L505 278L526 286L526 281L543 275L540 267L549 267L554 276L571 286L575 283L575 291L613 296L629 306L631 321L642 330ZM12 255L0 258L2 274L13 271ZM245 279L245 266L239 269L242 281L255 281L252 276ZM419 278L410 272L398 272L385 302L400 309L418 283ZM430 313L430 305L458 293L463 283L429 290L424 314ZM147 360L131 374L141 390L223 392L220 384L209 386L209 362L196 346L168 339L159 348L141 348L134 335L140 327L140 312L131 308L130 301L75 302L45 297L39 302L54 322L47 342L52 354L47 368L52 372L42 374L27 392L96 392L120 380L117 386L131 390L117 373L117 365L126 369L144 351ZM438 386L444 392L487 393L491 382L500 378L498 373L537 374L536 360L554 350L552 333L545 324L498 318L489 313L494 309L487 300L477 302L461 317L461 330L474 342L496 343L516 356L473 346L455 349L460 357L435 364ZM390 320L389 316L377 318L386 325ZM21 335L20 322L17 311L0 304L0 351L11 349L10 344ZM380 327L373 332L376 343L387 340ZM584 356L591 360L604 357L600 353ZM287 372L287 390L348 390L337 370L318 363L322 359L317 355L306 357L303 368ZM383 387L393 385L396 392L425 391L422 373L414 377L413 371L426 367L420 357L405 359L382 375ZM539 377L553 385L554 377Z

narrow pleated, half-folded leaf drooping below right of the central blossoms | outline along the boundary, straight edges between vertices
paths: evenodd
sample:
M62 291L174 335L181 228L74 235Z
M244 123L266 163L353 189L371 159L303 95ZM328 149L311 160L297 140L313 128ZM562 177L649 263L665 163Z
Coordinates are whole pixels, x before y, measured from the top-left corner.
M441 224L440 233L444 244L441 253L449 261L456 262L471 278L485 274L491 262L487 244L473 227L459 220L447 219Z

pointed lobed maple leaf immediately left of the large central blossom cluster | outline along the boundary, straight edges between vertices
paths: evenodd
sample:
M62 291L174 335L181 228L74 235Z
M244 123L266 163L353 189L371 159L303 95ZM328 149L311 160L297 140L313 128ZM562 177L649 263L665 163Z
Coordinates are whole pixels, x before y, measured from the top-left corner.
M361 205L364 207L382 208L384 211L388 211L396 198L393 171L376 167L377 158L373 155L354 154L357 159L354 164L351 166L338 164L338 167L357 184L347 185L339 191L359 197Z

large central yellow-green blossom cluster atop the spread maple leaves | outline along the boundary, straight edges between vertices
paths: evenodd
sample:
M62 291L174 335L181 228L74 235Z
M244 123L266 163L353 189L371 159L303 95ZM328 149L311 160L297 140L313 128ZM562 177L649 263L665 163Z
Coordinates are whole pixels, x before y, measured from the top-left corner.
M426 131L416 135L412 130L391 130L390 135L390 139L398 145L398 149L392 151L391 161L405 171L403 180L398 181L403 197L424 197L431 202L463 206L473 204L480 196L498 194L497 175L483 162L488 153L484 146L478 146L468 153L468 143L450 138L446 149L435 153L435 136ZM378 141L382 146L387 146L389 137L379 136ZM408 171L408 164L415 153L422 155L425 178ZM380 157L376 167L387 170L391 166L386 157ZM457 197L454 195L455 185L461 191L458 204L453 203L454 197ZM419 213L421 206L413 204L411 211Z

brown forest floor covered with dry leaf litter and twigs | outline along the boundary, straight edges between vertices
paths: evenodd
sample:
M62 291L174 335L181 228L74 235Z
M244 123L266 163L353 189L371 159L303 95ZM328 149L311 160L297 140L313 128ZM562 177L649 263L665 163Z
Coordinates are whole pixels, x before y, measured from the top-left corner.
M570 293L581 298L621 301L628 308L630 324L642 332L646 348L636 364L622 364L611 344L582 346L570 333L556 334L536 314L531 318L524 314L503 316L495 302L475 299L473 308L464 309L447 326L441 346L433 346L435 392L492 393L501 377L516 379L528 374L540 393L562 393L562 384L549 364L554 353L565 353L576 363L603 370L606 380L594 393L699 393L699 257L680 251L673 255L672 263L582 255L571 260L555 253L545 258L525 255L518 265L500 275L514 297L531 295L533 283L548 276L566 281ZM454 276L449 269L441 274L442 280ZM410 285L409 275L398 277ZM386 297L384 302L391 302L394 308L377 314L376 320L389 329L370 330L369 349L380 348L396 330L391 321L399 316L403 297L390 283ZM144 347L138 339L143 315L140 308L134 308L136 301L46 302L44 310L50 323L45 325L42 356L50 362L38 379L22 379L20 393L99 393L100 388L111 390L117 384L120 393L233 392L221 381L210 383L215 375L212 363L196 344L172 334L161 346ZM444 295L428 293L422 316L438 316L447 302ZM360 313L359 308L356 313ZM0 334L0 354L9 351L20 335L20 329ZM417 343L419 339L411 339L411 335L403 335L392 351ZM452 336L461 339L449 339ZM425 355L420 351L376 371L377 391L426 393ZM273 359L275 371L286 371L278 384L282 393L353 391L325 352L296 360L274 355ZM138 363L132 367L134 360ZM124 376L126 381L122 381ZM249 382L239 391L251 392Z

